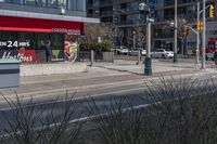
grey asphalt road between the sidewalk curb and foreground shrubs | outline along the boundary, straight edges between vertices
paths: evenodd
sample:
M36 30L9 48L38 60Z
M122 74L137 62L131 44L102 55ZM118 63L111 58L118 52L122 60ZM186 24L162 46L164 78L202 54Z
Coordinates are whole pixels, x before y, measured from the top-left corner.
M191 77L191 81L197 79L200 82L196 82L196 91L203 92L201 89L200 83L206 82L205 80L209 78L209 75L194 76ZM190 78L186 78L190 79ZM214 83L216 83L216 76L213 76ZM175 79L176 83L179 84L180 78ZM155 82L155 83L154 83ZM29 105L27 101L22 104L22 113L28 112L33 113L34 115L38 115L38 120L35 123L35 128L40 128L40 122L43 121L48 116L52 113L52 122L59 122L63 118L65 109L69 107L72 110L72 115L69 117L69 121L77 122L79 120L85 120L88 117L98 117L99 115L104 115L107 113L107 108L117 108L118 104L122 103L122 109L129 109L129 108L142 108L150 104L150 99L145 93L149 89L156 89L157 83L161 83L161 80L148 81L146 84L144 82L140 83L132 83L128 86L119 86L115 88L105 88L105 89L98 89L98 90L90 90L77 93L68 93L68 97L74 95L74 99L64 99L65 95L50 95L46 97L40 97L34 101L34 106ZM212 86L213 83L207 83L206 86ZM217 86L217 84L216 84ZM207 87L209 88L209 87ZM179 92L177 92L179 93ZM59 97L58 100L55 97ZM13 105L12 105L13 107ZM5 102L0 103L0 126L1 129L8 129L9 123L5 121L5 117L9 119L15 119L17 113L21 113L18 108L12 108ZM33 108L34 107L34 108ZM33 109L33 112L31 112ZM54 120L54 121L53 121ZM0 135L5 134L4 131L0 132Z

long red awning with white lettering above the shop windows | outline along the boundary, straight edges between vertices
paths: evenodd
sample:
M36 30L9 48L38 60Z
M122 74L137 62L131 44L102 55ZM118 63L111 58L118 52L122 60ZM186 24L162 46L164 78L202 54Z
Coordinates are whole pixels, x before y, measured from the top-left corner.
M80 22L0 15L0 30L80 35L84 34L84 24Z

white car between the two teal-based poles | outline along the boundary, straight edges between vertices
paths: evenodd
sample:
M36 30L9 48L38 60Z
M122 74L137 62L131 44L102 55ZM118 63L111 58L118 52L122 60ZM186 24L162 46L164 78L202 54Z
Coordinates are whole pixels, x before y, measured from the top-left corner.
M151 57L156 58L173 58L174 52L173 51L166 51L165 49L156 49L155 51L151 52Z

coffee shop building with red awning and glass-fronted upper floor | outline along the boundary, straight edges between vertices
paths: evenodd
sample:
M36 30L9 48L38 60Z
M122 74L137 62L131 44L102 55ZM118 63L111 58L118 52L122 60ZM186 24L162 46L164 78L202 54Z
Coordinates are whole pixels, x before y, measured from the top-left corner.
M85 23L99 23L87 17L86 0L0 0L0 58L44 62L49 41L51 61L64 61Z

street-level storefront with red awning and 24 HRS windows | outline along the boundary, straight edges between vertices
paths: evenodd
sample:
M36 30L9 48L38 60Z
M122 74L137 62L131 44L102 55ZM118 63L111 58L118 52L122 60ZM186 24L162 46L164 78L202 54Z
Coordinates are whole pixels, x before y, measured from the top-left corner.
M46 62L49 40L51 61L64 61L65 52L76 51L72 49L76 49L77 38L82 34L84 23L80 22L0 16L0 58L17 58L22 63Z

